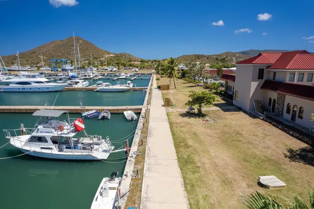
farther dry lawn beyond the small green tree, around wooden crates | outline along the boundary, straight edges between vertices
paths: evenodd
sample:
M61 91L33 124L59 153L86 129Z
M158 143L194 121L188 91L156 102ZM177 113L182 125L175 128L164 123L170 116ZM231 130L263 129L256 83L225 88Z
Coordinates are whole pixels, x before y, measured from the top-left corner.
M169 78L163 77L157 81L157 85L160 84L169 84ZM177 81L176 81L177 82ZM187 109L187 106L184 105L188 100L189 91L206 91L203 87L197 86L195 84L188 83L182 79L178 79L176 83L176 88L174 87L173 80L171 79L170 90L162 91L162 97L165 101L165 98L170 98L171 102L176 106L171 106L171 108L181 108ZM215 103L224 103L218 96ZM205 105L204 107L213 107L213 105Z

